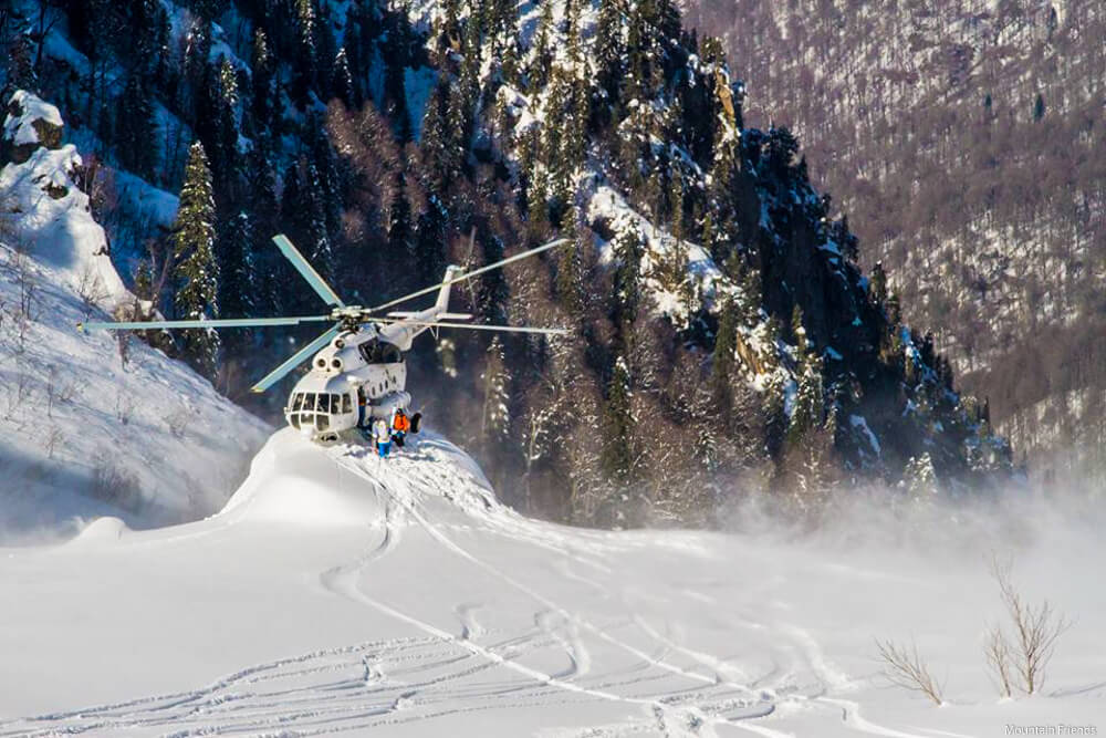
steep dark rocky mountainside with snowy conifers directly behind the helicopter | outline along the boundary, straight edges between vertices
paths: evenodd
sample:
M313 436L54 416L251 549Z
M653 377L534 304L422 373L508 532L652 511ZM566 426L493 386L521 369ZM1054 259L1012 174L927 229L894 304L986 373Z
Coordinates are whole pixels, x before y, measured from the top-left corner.
M721 44L669 0L17 10L9 86L79 121L112 259L164 314L317 312L278 230L365 304L571 237L456 305L571 340L409 356L428 420L520 509L718 523L764 493L816 518L845 486L920 499L1013 471L987 404L862 272L795 137L745 126ZM279 423L281 388L244 389L307 337L158 341Z

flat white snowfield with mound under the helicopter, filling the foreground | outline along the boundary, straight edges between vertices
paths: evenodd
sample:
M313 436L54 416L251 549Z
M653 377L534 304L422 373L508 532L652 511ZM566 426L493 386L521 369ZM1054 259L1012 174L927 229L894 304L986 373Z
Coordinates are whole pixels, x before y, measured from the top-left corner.
M802 543L573 530L500 506L439 438L380 461L285 429L211 519L102 519L61 547L0 551L0 735L936 738L1100 723L1093 527L1012 529L1019 581L1079 621L1046 694L999 701L979 651L998 614L983 559L1011 529L969 518ZM888 689L874 636L915 637L949 704Z

